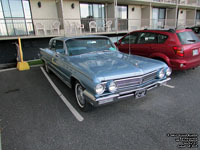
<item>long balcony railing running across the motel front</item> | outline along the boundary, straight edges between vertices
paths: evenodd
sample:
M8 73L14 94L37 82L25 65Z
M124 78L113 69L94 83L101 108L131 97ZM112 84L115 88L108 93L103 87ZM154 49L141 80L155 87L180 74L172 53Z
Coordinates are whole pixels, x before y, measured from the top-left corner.
M177 21L177 23L176 23ZM200 24L193 19L33 19L0 20L0 38L118 34L141 29L185 28Z

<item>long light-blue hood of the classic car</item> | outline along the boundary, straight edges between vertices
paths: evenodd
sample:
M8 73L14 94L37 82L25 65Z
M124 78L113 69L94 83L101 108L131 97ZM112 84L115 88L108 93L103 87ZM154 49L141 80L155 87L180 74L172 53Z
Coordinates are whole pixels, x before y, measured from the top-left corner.
M70 57L70 62L97 82L139 76L167 67L165 63L121 52L96 52Z

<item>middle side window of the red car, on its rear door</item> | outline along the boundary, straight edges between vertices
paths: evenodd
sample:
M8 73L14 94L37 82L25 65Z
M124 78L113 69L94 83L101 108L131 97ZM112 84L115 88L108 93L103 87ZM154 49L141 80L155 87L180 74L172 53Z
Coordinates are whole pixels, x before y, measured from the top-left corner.
M158 35L156 33L144 32L141 33L138 44L158 43Z

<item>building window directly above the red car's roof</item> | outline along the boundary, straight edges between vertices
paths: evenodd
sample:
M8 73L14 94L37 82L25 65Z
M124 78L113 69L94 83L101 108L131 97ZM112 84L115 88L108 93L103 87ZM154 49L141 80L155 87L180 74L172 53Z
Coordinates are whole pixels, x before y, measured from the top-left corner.
M153 28L164 28L165 26L165 8L153 8Z

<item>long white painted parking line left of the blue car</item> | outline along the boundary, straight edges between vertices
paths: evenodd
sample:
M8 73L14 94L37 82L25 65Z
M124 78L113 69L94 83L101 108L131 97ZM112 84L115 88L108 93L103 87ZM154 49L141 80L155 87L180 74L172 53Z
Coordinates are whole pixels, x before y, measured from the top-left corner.
M53 81L48 76L48 74L44 71L44 68L40 67L40 69L42 70L43 74L45 75L45 77L47 78L47 80L49 81L49 83L51 84L51 86L53 87L53 89L56 91L56 93L58 94L58 96L67 105L67 107L72 112L72 114L76 117L76 119L78 121L83 121L84 118L78 113L78 111L70 104L70 102L65 98L65 96L61 93L61 91L56 87L56 85L53 83Z

